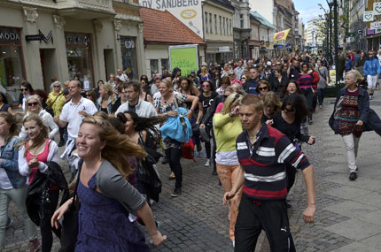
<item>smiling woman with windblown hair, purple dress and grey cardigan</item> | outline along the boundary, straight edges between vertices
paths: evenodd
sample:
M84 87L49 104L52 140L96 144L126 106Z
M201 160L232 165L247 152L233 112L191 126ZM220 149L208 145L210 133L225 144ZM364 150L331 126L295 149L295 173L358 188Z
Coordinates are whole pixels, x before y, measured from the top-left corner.
M143 195L127 180L134 171L126 160L143 159L144 149L108 121L95 117L83 119L76 145L83 164L77 189L81 209L75 250L148 251L144 233L128 220L126 210L143 219L154 245L166 240ZM56 210L51 225L59 226L58 220L72 203L73 198Z

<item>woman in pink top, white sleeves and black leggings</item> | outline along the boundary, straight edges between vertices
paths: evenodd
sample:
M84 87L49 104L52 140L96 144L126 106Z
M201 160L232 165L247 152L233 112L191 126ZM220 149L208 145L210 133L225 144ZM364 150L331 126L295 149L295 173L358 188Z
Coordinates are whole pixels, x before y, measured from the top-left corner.
M33 182L37 171L47 174L49 161L59 163L58 145L49 139L49 129L43 124L38 115L29 115L23 121L27 133L27 140L20 142L19 146L19 173L27 176L29 185ZM58 187L52 186L49 200L43 205L43 214L40 213L40 230L42 236L42 251L51 251L53 236L51 233L51 216L58 203ZM60 230L53 229L60 236Z

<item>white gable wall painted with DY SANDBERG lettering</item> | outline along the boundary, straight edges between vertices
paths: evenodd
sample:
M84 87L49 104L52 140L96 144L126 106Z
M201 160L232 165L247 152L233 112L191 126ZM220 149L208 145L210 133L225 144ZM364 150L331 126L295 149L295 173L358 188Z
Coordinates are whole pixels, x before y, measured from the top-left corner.
M200 38L204 38L202 27L202 5L201 0L187 0L187 1L159 1L159 0L139 0L139 5L158 11L169 11L176 19L189 27ZM212 24L209 19L212 15L207 17L208 22Z

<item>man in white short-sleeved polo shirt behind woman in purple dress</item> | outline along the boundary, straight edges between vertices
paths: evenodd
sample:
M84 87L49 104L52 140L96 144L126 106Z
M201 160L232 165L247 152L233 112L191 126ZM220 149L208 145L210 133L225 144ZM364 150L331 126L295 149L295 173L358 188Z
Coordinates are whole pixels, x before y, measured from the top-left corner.
M82 97L82 85L78 80L71 80L68 89L72 99L65 104L59 118L54 118L54 122L60 127L67 126L69 140L75 140L85 113L93 115L97 108L89 99Z

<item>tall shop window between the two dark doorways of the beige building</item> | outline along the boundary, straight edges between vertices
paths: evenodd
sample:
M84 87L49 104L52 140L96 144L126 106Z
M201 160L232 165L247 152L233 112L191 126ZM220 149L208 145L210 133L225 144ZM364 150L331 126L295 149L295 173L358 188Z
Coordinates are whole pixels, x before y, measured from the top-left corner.
M65 33L70 79L78 76L84 89L94 88L90 34Z

